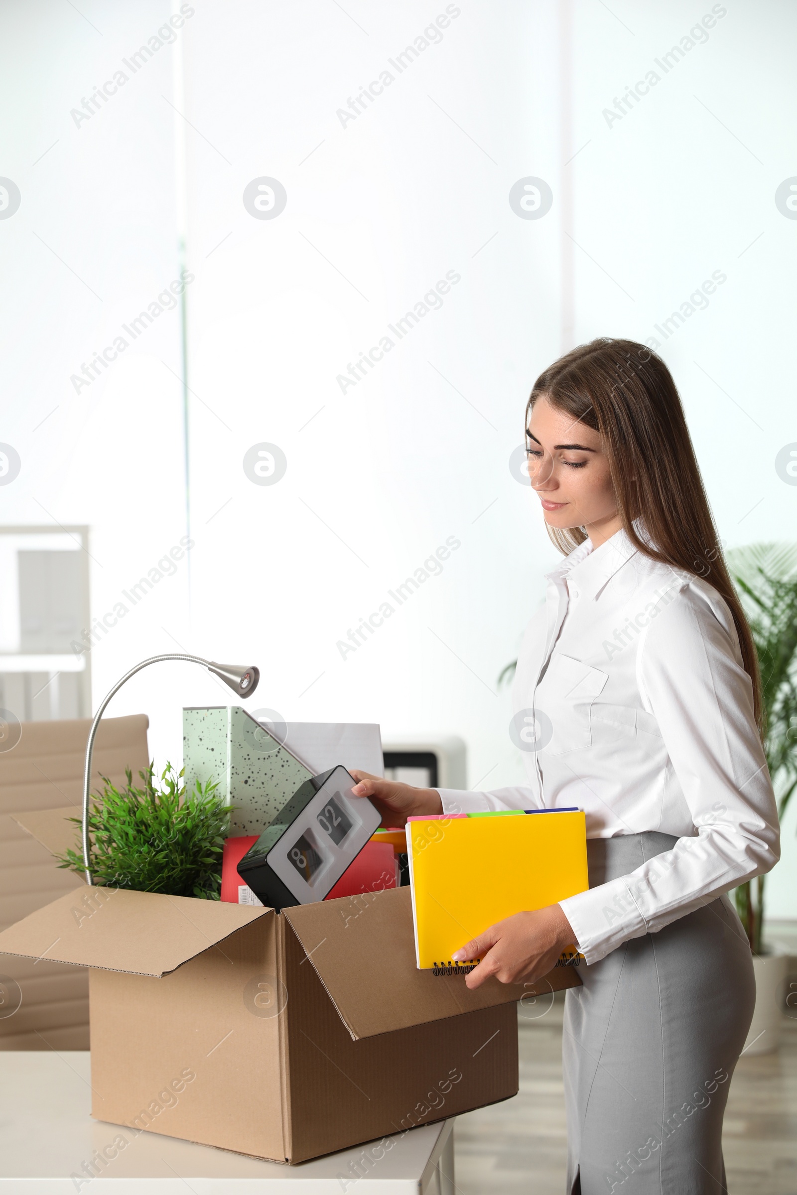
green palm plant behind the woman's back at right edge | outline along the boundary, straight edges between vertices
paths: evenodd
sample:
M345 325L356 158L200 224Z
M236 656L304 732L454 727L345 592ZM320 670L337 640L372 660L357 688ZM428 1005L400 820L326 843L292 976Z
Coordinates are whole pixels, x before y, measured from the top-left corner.
M728 552L761 669L764 750L783 821L797 788L797 544L749 544ZM750 949L764 951L764 876L736 889Z

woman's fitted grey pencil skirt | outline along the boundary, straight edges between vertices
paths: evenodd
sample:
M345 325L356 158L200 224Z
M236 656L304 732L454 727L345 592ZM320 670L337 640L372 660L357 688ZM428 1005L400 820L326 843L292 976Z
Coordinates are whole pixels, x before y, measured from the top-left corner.
M589 887L669 851L669 834L587 842ZM755 1001L728 896L580 967L564 1013L568 1195L719 1195L722 1121Z

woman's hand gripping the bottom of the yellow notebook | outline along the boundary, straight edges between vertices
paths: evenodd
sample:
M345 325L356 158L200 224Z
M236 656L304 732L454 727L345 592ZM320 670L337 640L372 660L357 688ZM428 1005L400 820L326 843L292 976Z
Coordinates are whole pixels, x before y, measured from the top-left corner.
M562 906L548 905L534 913L515 913L497 921L461 950L455 950L452 960L482 960L465 979L471 988L479 987L490 975L502 983L516 983L521 979L533 981L553 970L562 951L575 942Z

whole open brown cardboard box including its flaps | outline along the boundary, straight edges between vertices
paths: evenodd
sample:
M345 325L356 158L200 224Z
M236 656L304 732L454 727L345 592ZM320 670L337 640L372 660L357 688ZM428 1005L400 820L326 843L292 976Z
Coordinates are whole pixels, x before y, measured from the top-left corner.
M90 967L92 1115L302 1162L517 1091L529 992L415 966L410 890L272 909L69 891L0 954ZM570 968L540 981L578 983Z

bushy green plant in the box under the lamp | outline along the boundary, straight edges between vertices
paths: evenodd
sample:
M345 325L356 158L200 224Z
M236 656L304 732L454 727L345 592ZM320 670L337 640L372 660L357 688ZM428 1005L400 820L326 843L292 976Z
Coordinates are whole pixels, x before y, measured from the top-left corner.
M229 834L229 805L217 784L197 780L186 792L183 772L166 764L159 783L154 764L139 772L142 788L117 789L103 777L102 798L90 813L91 869L94 883L170 896L219 900L221 857ZM81 826L80 817L69 821ZM59 866L84 875L82 852L68 850Z

